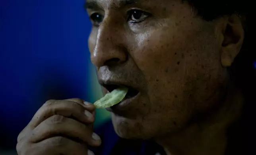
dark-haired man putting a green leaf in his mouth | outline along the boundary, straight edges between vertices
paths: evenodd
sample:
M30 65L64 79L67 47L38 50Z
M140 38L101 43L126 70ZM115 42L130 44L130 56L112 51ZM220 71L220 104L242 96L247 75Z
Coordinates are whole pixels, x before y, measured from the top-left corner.
M18 154L246 154L238 122L255 74L245 50L248 4L240 3L87 0L103 92L129 88L107 108L114 130L107 123L93 133L93 104L50 100L19 134Z

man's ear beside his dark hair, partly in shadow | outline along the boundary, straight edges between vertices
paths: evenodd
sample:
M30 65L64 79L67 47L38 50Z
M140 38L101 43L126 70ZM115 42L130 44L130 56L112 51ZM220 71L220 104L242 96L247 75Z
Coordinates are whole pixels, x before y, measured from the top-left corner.
M222 20L224 24L222 24L221 32L220 60L223 67L229 67L242 47L244 41L244 29L242 21L237 15L231 15L224 19L225 20Z

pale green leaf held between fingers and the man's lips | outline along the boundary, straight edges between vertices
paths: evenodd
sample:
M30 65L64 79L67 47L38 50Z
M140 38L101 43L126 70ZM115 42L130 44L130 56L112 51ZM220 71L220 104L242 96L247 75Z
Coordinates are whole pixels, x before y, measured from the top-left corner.
M111 91L111 93L107 93L103 98L97 100L94 103L95 108L107 108L118 104L122 101L125 95L128 92L128 88L120 87Z

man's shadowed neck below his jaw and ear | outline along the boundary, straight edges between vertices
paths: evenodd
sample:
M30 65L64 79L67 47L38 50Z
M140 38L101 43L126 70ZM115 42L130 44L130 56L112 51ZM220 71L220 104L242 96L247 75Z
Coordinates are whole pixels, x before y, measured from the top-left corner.
M242 105L242 94L231 87L224 104L209 119L156 141L167 155L224 155L227 128L239 119Z

